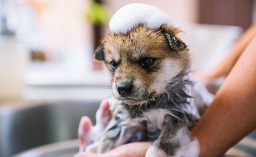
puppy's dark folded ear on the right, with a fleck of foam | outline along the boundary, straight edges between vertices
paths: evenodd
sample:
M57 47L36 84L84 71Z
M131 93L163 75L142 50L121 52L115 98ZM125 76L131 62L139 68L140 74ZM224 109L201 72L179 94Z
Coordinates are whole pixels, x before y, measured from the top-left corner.
M172 31L164 29L163 34L167 37L171 48L174 50L182 51L187 47L186 44L177 38Z

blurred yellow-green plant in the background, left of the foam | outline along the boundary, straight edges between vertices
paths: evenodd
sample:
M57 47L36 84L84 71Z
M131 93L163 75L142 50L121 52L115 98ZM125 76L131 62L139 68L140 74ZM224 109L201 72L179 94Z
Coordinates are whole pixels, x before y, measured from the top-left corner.
M89 10L87 10L85 15L94 25L107 24L108 8L101 3L91 0Z

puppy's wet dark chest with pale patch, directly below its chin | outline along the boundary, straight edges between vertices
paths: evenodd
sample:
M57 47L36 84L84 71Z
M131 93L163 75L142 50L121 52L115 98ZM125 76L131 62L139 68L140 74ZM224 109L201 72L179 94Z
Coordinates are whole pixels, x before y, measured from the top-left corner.
M187 101L175 104L170 100L158 100L147 105L121 105L124 106L124 110L128 114L127 117L132 122L140 122L146 127L150 126L158 130L161 130L166 124L178 125L189 119L186 108L190 104Z

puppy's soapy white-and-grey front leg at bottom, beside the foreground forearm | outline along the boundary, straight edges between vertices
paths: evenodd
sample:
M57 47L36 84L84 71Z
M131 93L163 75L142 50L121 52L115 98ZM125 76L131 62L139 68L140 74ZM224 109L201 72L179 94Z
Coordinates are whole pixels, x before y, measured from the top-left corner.
M198 157L199 144L191 139L187 127L167 128L148 148L146 157Z

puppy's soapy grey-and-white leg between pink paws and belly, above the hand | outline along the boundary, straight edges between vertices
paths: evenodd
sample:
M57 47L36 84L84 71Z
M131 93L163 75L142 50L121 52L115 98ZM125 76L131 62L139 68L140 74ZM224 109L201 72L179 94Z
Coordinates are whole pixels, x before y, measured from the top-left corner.
M103 153L125 143L141 141L146 136L144 125L141 119L131 118L129 109L122 104L116 105L97 152Z

